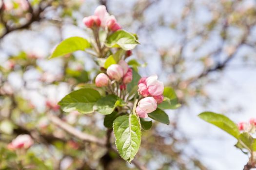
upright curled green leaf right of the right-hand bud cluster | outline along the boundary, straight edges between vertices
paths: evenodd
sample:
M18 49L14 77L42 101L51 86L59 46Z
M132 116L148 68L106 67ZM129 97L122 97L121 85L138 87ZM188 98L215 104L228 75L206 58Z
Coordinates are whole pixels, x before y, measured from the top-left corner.
M180 107L177 95L172 87L164 87L164 101L158 104L160 109L177 109Z

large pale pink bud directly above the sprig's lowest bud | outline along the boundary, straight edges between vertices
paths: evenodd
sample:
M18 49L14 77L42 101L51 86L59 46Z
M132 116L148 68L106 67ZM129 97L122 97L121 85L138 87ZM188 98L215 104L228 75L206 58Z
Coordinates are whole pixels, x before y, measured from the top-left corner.
M151 96L159 96L163 94L163 83L158 81L158 76L153 75L146 79L146 85L148 87L148 92Z

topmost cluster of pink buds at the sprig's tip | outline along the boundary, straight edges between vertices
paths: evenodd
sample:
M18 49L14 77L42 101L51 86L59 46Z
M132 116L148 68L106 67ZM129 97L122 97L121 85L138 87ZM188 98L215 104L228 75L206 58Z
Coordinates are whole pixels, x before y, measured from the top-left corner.
M115 16L109 15L104 5L98 6L93 16L83 18L83 23L88 28L100 26L103 29L108 28L108 30L113 32L121 29Z

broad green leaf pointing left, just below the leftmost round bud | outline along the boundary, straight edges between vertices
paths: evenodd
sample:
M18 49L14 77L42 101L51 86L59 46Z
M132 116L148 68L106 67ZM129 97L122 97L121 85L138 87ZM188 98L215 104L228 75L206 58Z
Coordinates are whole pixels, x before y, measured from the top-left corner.
M100 97L101 96L97 90L92 88L82 88L66 95L59 102L59 105L64 112L77 110L80 113L87 114L94 112L93 106Z

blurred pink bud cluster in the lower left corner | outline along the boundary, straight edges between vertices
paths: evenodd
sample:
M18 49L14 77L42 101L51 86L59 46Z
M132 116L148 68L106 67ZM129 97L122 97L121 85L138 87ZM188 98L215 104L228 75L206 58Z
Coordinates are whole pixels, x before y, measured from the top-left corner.
M34 141L29 135L19 135L8 144L9 150L28 149Z

